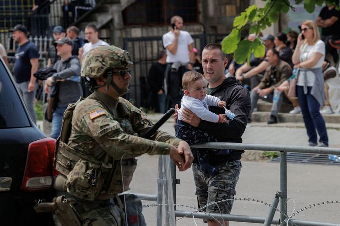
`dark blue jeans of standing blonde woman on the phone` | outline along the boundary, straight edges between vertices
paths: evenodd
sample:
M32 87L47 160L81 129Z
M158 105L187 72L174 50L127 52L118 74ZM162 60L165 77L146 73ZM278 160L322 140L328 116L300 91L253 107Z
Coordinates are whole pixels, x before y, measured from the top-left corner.
M323 142L324 144L328 145L325 120L319 112L320 104L311 95L311 90L312 87L308 86L307 94L304 94L304 87L296 86L296 92L301 107L302 117L304 119L307 135L309 138L308 141L311 143L317 143L317 130L320 137L319 142Z

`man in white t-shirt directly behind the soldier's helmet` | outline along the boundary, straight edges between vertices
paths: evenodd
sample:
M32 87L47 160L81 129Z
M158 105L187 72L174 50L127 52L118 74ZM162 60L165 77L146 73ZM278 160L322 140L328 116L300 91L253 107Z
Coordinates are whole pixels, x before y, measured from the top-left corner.
M91 49L96 48L100 45L109 45L107 42L104 42L103 40L100 40L98 38L98 29L94 24L89 24L85 27L85 36L89 42L85 43L83 47L79 49L80 63L82 62L86 53Z

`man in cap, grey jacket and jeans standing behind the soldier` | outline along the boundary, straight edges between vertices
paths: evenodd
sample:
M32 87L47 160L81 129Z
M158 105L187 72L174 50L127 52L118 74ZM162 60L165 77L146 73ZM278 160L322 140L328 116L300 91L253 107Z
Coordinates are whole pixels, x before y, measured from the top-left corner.
M82 96L83 91L80 85L80 62L77 56L72 56L72 40L64 37L55 41L53 45L61 59L54 64L53 68L57 72L46 80L45 91L51 95L52 89L50 92L49 87L53 86L56 102L51 137L57 139L60 135L63 113L68 104L75 103Z

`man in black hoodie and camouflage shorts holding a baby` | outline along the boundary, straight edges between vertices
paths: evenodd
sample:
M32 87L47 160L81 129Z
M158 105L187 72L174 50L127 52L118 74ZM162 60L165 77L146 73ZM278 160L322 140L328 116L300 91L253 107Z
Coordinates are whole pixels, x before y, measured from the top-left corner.
M242 134L247 125L250 111L250 96L234 77L225 78L224 69L228 61L222 52L220 44L211 43L204 47L202 52L202 66L204 77L209 85L207 94L220 98L227 103L227 109L236 114L234 120L226 123L213 123L203 121L190 110L182 111L184 122L206 131L215 136L220 142L242 142ZM215 114L224 113L223 108L210 106L209 110ZM199 151L199 149L198 149ZM241 154L243 150L232 150L228 155L216 155L210 152L209 162L218 169L215 176L204 175L197 161L192 166L198 202L208 213L230 214L235 188L241 171ZM195 159L196 156L195 156ZM227 200L227 201L223 201ZM208 226L228 226L228 221L217 222L207 220Z

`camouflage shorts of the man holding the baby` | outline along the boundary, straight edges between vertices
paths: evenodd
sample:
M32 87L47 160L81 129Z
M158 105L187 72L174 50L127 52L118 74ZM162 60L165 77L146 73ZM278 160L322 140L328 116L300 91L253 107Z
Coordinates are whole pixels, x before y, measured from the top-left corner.
M230 214L234 200L227 199L233 199L236 195L235 188L242 164L240 160L232 160L215 167L219 173L206 176L199 165L192 165L199 206L208 213Z

